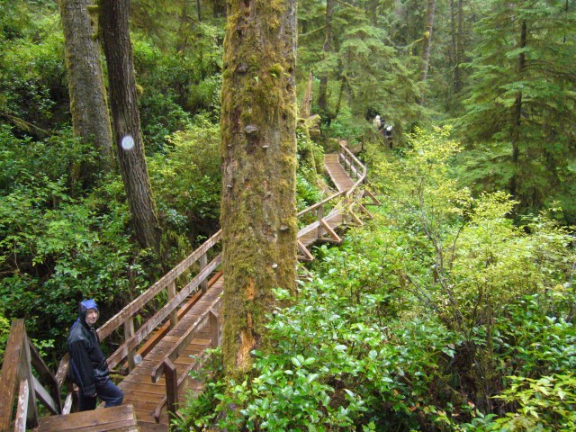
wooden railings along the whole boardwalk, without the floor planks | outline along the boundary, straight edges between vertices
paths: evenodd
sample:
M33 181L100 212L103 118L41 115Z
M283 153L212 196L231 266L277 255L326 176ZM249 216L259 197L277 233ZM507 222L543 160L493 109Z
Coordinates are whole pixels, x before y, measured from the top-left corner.
M355 192L360 184L365 182L366 168L354 156L354 154L343 144L338 148L338 160L342 166L347 169L351 178L356 178L356 183L352 188L341 193L335 193L325 200L312 205L311 207L300 211L297 214L299 219L305 218L309 214L313 214L314 221L302 228L298 232L298 247L301 252L299 259L302 261L311 261L313 257L308 251L307 247L302 244L301 238L315 232L315 240L330 241L340 243L342 240L338 234L329 225L329 221L338 215L347 213L358 222L361 221L353 214L352 206L359 205L364 211L365 208L355 199ZM367 212L367 211L366 211ZM370 213L368 213L370 214ZM166 319L169 319L170 327L175 326L177 322L177 310L184 300L191 294L208 287L208 280L211 274L220 266L221 256L211 255L215 257L208 263L208 255L213 247L216 247L221 238L221 230L209 238L206 242L198 247L193 253L186 257L178 266L175 266L166 275L164 275L156 284L153 284L139 297L134 299L130 304L124 307L120 312L114 315L110 320L106 321L100 329L97 330L98 336L101 341L108 338L117 329L123 329L123 340L120 347L116 349L112 356L108 358L108 365L112 369L121 362L128 362L130 370L137 364L136 354L139 346L145 341L148 336L155 331L158 326L162 325ZM196 263L198 265L196 266ZM184 285L184 287L176 293L176 280L178 277L185 273L193 273L198 271L193 279ZM144 313L143 309L148 305L148 302L153 300L159 293L166 291L166 304L157 311L154 316L149 318L144 324L136 329L135 317ZM180 374L176 373L174 361L175 358L182 354L184 348L190 341L197 335L203 328L210 325L212 335L212 346L217 347L220 344L220 320L218 319L220 311L220 298L215 300L210 308L208 308L202 316L196 320L184 335L176 342L170 352L166 355L165 359L159 362L151 374L153 382L162 376L166 375L166 398L162 401L157 408L155 417L159 419L159 412L164 404L167 403L168 411L172 414L175 412L175 404L177 403L177 389L181 383L184 382L185 377L189 374L190 370L198 367L202 363L203 355L198 361L193 362L185 371ZM149 343L149 341L148 341ZM151 349L148 347L146 351L140 349L142 356L145 356ZM35 371L40 377L44 378L49 383L50 391L46 391L40 385L38 380L31 373L31 365L35 367ZM38 409L36 405L36 397L48 407L54 414L67 414L70 412L72 403L72 394L68 393L64 407L61 406L59 399L60 388L66 381L67 369L69 365L69 356L65 356L58 365L58 371L52 375L46 365L41 361L40 356L36 349L31 346L23 329L23 320L15 320L13 329L11 330L8 347L4 356L4 363L2 368L2 375L0 378L0 395L2 395L0 406L0 432L8 430L12 419L12 404L4 403L4 401L14 401L15 388L19 386L18 393L18 410L14 428L15 430L24 430L26 426L34 427L38 422ZM28 421L26 421L28 419Z

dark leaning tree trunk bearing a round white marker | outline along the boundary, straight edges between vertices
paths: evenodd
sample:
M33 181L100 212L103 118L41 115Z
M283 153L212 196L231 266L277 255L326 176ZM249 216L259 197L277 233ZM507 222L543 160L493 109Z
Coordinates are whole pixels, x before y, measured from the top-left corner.
M122 181L136 238L140 245L153 247L159 254L161 229L140 135L128 20L130 0L100 0L99 8L104 54L108 65L114 140Z

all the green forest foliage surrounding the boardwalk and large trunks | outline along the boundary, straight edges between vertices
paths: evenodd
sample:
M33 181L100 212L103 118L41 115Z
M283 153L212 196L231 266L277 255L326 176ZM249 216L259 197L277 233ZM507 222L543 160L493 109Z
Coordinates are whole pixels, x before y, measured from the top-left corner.
M94 41L83 55L101 73L89 87L104 138L78 128L74 88L88 85L74 87L68 2L0 7L0 357L24 318L52 367L78 301L99 302L104 322L221 216L227 2L127 2L120 88L134 94L151 239L112 145L120 51L102 29L122 23L84 3L73 34ZM340 247L314 250L297 293L275 290L274 349L240 380L215 374L178 427L574 430L576 2L297 3L299 108L311 92L297 210L327 195L323 155L339 139L362 148L382 205ZM236 415L220 414L229 403Z

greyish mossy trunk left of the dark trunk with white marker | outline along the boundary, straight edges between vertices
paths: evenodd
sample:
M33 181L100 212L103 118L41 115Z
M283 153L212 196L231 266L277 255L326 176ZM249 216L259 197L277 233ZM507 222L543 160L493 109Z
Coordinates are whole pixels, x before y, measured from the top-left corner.
M88 13L92 0L60 0L66 69L74 136L94 145L95 165L75 168L74 177L90 184L94 175L112 167L112 129L104 89L100 47ZM95 27L95 26L94 26Z

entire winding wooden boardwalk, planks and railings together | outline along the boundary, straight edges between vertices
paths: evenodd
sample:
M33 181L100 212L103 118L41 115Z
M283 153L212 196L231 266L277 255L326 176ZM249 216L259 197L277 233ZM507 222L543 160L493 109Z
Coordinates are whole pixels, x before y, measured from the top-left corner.
M342 144L338 153L325 156L324 163L338 193L298 213L302 223L302 229L298 232L299 259L302 261L314 259L308 249L311 245L318 242L339 244L342 240L338 232L342 227L346 228L349 223L362 224L355 214L355 209L361 209L370 216L360 202L365 193L355 192L356 186L365 180L365 166ZM356 177L356 182L352 177ZM370 196L377 203L374 195ZM34 394L38 392L40 401L47 405L49 410L65 415L40 419L37 432L166 432L169 425L168 409L175 410L177 405L174 404L178 401L184 402L185 394L189 390L199 390L202 387L202 383L193 382L189 372L201 365L206 348L220 343L221 320L218 315L223 276L221 272L217 272L221 258L218 250L214 249L220 242L220 236L219 231L98 329L98 335L103 340L123 327L124 340L108 358L111 368L120 368L127 372L130 370L118 384L124 392L121 407L66 415L70 412L71 393L68 392L65 403L59 401L59 393L66 382L67 356L60 362L56 374L52 375L48 370L42 372L49 380L47 389L52 389L45 390L32 377L31 364L36 366L40 360L36 358L38 355L33 346L32 360L36 360L32 362L30 354L24 349L29 342L21 320L19 327L16 326L17 331L14 331L14 343L9 339L6 348L6 358L14 356L14 365L17 366L3 365L0 386L5 384L4 381L14 381L17 376L28 376L29 378L20 384L19 395L13 392L16 387L14 384L6 384L8 390L4 391L5 394L2 393L6 400L11 401L14 400L14 394L18 395L18 403L23 401L28 409L22 405L22 410L19 408L16 412L14 424L20 425L20 429L7 427L10 419L0 419L0 430L22 430L22 424L26 426L26 418L31 419L29 426L38 424L38 411L33 409L36 405ZM210 263L209 255L215 256ZM181 286L184 283L179 292L176 292L176 281L179 281ZM165 293L166 304L158 306L154 316L142 322L139 329L135 329L137 317L147 313L148 303L157 299L160 293ZM12 335L11 330L11 338ZM140 359L140 355L141 362L138 363L136 359ZM21 360L17 360L18 358ZM125 363L122 365L122 362ZM25 370L22 369L24 366ZM32 387L28 382L33 384ZM166 386L166 383L169 385ZM0 392L3 392L2 389ZM53 400L49 393L53 395ZM31 410L31 407L32 415L26 411ZM10 408L5 410L5 414L8 413Z

